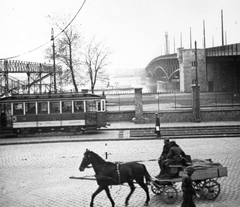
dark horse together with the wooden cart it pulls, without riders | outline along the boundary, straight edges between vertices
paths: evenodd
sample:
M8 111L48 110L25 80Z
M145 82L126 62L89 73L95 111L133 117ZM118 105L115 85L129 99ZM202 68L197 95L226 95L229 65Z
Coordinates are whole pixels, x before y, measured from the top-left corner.
M144 203L145 206L147 206L150 201L149 189L147 186L148 184L151 185L153 193L161 195L166 203L174 203L178 198L177 183L182 182L182 176L185 167L182 165L169 165L170 175L168 176L171 176L171 178L153 178L148 173L146 166L139 162L143 161L127 163L108 162L101 158L98 154L87 149L83 155L79 170L82 172L91 164L96 173L94 178L70 178L97 181L98 188L92 194L90 202L91 207L93 206L94 198L102 190L105 190L112 207L114 207L115 202L111 197L109 186L122 185L123 183L128 183L130 187L130 193L126 197L125 205L128 205L129 199L134 192L134 183L138 183L146 193L146 200ZM227 168L223 167L221 164L213 163L210 159L204 161L193 160L191 162L191 166L195 169L194 173L192 174L192 180L196 193L202 197L205 197L206 199L215 199L220 193L220 184L217 182L217 179L227 176ZM172 176L174 176L174 178Z

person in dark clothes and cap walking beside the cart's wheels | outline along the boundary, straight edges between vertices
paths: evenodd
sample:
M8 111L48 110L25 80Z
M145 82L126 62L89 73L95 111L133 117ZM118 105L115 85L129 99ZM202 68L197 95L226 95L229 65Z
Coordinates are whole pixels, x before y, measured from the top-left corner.
M193 186L192 186L192 174L194 168L189 166L186 168L186 174L182 177L182 191L183 191L183 202L181 207L196 207L193 196L197 195Z

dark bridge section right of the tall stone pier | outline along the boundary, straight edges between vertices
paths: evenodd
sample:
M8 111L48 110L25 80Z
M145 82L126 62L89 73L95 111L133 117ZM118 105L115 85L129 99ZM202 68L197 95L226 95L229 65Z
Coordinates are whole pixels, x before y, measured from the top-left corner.
M240 43L207 48L208 90L240 93Z

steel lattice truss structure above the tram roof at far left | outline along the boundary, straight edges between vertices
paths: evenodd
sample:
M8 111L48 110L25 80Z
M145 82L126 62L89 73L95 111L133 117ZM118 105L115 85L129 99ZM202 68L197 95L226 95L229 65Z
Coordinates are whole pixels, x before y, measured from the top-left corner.
M57 73L60 72L59 69L56 71ZM27 80L20 80L21 78L18 77L20 77L21 74L27 75ZM15 75L15 77L13 77L13 75ZM9 93L30 94L53 92L53 76L54 69L50 64L18 60L0 60L0 95Z

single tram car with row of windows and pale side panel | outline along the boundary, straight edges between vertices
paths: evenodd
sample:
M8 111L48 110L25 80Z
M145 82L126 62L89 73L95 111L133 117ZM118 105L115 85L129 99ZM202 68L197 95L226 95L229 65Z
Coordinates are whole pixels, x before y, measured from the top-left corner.
M1 133L73 132L106 127L106 100L90 93L13 94L0 98Z

